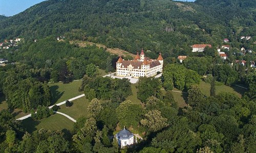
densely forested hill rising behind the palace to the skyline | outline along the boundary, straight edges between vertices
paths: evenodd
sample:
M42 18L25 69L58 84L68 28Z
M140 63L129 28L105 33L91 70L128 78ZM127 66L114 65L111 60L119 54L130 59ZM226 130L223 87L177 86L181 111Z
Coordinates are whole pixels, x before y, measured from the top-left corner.
M255 0L50 0L0 20L0 39L76 34L77 39L131 53L143 47L165 57L184 55L191 44L217 46L223 38L239 47L240 35L255 35L255 4Z

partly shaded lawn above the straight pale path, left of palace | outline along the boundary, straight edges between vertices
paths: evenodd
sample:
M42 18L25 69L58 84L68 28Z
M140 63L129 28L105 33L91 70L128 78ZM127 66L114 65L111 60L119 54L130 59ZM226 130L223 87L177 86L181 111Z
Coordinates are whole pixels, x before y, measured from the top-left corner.
M52 92L52 105L83 94L83 92L78 91L81 81L74 81L69 84L63 84L61 82L48 83L48 85Z

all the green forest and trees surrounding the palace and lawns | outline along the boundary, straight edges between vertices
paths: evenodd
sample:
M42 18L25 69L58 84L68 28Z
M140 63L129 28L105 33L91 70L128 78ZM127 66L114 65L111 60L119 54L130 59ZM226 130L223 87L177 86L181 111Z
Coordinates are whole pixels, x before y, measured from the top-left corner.
M0 42L22 38L15 47L0 48L0 58L8 59L0 66L0 97L8 105L0 111L0 152L254 152L255 5L255 0L49 0L12 17L0 16ZM114 72L119 55L77 42L133 54L143 48L152 59L162 53L162 77L139 78L140 103L134 103L127 100L129 80L99 75L99 70ZM212 47L192 53L197 43ZM230 45L221 49L226 60L217 52L222 44ZM180 62L179 55L187 58ZM13 116L19 109L34 121L48 118L59 109L48 108L54 105L49 83L77 80L77 90L89 101L88 115L77 119L69 135L47 129L29 133ZM209 96L200 82L210 84ZM239 84L247 91L241 97L217 93L217 84ZM185 107L179 108L172 90L187 94ZM68 100L66 107L72 107ZM143 140L118 147L113 133L123 126Z

